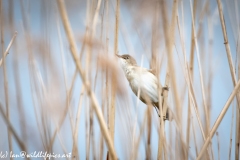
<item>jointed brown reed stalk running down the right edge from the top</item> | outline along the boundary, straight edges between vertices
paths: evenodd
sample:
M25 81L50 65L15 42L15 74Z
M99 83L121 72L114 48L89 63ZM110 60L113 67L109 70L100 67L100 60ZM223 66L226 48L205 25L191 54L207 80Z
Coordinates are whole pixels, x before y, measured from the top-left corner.
M222 4L221 4L221 0L217 0L218 3L218 11L219 11L219 18L221 21L221 26L222 26L222 33L223 33L223 38L224 38L224 44L225 44L225 48L226 48L226 53L227 53L227 57L228 57L228 63L229 63L229 68L230 68L230 73L232 76L232 81L233 81L233 85L236 86L237 83L237 78L236 78L236 74L234 72L234 67L233 67L233 62L232 62L232 56L231 56L231 50L230 50L230 46L228 43L228 36L227 36L227 30L226 30L226 25L225 25L225 20L224 20L224 16L223 16L223 11L222 11ZM239 142L240 142L240 118L239 118L239 112L240 112L240 95L237 94L237 101L238 101L238 108L236 110L236 142L235 142L235 158L239 159Z

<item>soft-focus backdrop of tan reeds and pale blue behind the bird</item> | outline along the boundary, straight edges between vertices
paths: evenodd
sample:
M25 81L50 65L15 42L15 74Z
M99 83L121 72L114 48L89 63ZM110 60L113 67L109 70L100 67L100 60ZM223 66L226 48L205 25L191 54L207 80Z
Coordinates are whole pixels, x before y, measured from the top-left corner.
M0 152L106 159L103 122L76 69L58 3L1 0ZM196 159L234 88L217 1L64 4L84 81L97 99L118 159ZM238 79L240 2L221 4ZM139 66L156 70L162 86L169 75L167 104L177 119L166 121L164 132L155 109L131 91L115 54L130 54ZM234 99L203 159L239 158L238 114Z

